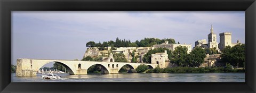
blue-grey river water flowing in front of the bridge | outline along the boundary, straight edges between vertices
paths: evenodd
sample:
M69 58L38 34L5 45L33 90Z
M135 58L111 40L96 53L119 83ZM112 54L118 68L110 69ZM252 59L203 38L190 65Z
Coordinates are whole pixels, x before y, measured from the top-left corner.
M245 73L119 73L61 75L61 79L46 80L36 77L16 77L12 82L245 82Z

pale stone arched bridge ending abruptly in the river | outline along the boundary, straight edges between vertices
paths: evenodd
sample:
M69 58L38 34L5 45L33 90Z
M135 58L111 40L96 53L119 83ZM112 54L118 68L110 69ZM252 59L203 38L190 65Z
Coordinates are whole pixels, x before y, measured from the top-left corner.
M37 71L45 64L50 62L57 62L65 66L70 74L87 74L87 69L92 65L100 65L102 73L118 73L118 71L127 65L130 67L132 72L136 72L135 69L140 64L148 65L151 69L155 68L157 64L146 64L146 63L127 63L127 62L95 62L95 61L68 61L68 60L38 60L20 58L17 59L17 70L16 76L36 76Z

